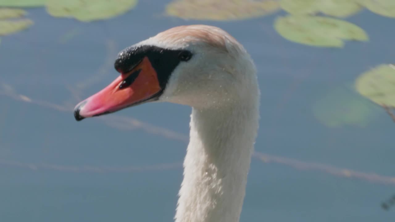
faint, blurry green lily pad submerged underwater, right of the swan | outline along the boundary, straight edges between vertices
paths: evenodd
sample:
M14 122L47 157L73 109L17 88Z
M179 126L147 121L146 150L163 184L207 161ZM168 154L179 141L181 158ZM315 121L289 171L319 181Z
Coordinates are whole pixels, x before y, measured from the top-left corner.
M316 119L329 128L365 127L378 116L379 110L351 87L335 88L313 105Z

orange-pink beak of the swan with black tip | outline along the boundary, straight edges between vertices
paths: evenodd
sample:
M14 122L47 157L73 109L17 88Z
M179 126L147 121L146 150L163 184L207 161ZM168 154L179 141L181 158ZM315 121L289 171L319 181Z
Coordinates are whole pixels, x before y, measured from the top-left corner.
M74 117L80 121L158 100L162 91L158 75L145 57L131 71L122 73L103 90L78 103L74 108Z

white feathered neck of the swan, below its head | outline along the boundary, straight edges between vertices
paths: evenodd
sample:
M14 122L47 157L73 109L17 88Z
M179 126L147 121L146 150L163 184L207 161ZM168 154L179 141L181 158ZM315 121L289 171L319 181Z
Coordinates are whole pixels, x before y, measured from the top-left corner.
M258 129L258 101L192 108L176 222L238 222Z

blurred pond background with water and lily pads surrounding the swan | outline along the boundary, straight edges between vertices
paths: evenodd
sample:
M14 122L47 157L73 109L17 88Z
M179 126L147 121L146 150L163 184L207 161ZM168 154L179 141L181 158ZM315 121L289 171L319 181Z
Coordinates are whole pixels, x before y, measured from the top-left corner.
M394 19L392 0L0 0L0 221L173 220L190 107L72 111L120 50L186 24L258 69L242 222L393 221Z

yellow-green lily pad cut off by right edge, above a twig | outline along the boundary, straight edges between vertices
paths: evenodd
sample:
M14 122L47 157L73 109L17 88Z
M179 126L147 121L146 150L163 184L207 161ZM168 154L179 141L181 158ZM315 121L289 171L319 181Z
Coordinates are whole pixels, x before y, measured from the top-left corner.
M355 81L355 88L378 105L395 107L395 66L382 64L362 73Z

